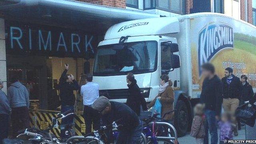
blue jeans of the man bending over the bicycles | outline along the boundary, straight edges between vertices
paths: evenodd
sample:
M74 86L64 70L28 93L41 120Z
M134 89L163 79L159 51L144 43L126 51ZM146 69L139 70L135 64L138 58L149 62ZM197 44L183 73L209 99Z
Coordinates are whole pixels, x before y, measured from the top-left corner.
M139 144L142 122L131 131L119 131L116 144Z

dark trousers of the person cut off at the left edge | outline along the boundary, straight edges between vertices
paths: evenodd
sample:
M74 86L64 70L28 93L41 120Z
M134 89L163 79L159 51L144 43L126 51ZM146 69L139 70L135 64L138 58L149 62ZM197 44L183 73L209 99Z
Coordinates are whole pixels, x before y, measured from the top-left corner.
M2 140L8 137L8 128L9 128L9 115L0 114L0 144Z

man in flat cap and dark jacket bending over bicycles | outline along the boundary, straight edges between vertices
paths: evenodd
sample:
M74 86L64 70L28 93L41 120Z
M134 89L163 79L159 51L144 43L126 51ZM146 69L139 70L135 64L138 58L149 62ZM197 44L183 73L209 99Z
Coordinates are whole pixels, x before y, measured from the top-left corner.
M102 114L104 125L112 124L112 122L118 120L116 123L121 127L118 128L116 144L137 144L140 141L142 122L126 104L110 102L105 96L100 96L92 104L92 108ZM112 134L110 133L108 136L109 140L112 140Z

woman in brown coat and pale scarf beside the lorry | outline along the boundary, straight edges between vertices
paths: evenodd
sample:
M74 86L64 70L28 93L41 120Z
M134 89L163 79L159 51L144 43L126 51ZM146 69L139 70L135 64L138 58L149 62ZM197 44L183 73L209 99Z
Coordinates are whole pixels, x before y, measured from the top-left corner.
M154 106L156 99L158 98L162 104L162 114L164 116L165 113L173 110L173 101L174 101L174 90L172 88L172 81L169 80L169 76L167 74L163 74L160 76L160 87L158 90L158 95L150 104L148 104L148 108ZM170 122L173 118L173 113L166 114L164 116L164 122Z

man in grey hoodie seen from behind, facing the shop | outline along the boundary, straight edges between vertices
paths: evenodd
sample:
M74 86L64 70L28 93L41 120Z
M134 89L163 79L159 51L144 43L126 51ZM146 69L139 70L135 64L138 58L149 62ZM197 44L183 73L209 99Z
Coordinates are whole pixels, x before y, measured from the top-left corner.
M7 97L12 107L13 136L17 136L19 130L29 127L29 96L27 88L19 81L19 76L12 78L12 84L7 90Z

